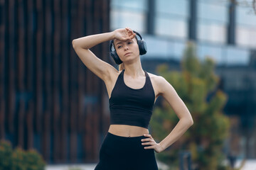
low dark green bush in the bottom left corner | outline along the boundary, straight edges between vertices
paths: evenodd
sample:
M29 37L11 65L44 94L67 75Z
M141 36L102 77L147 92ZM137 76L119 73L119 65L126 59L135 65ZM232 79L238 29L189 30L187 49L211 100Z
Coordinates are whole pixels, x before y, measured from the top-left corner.
M11 148L11 144L0 141L0 170L43 170L46 163L36 150L27 152L17 147Z

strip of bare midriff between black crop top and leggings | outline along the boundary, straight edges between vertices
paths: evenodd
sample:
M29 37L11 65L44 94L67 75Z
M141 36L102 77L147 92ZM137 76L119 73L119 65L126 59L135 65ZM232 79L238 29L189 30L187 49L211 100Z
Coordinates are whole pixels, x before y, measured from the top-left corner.
M110 125L108 132L122 137L138 137L149 134L149 130L134 125Z

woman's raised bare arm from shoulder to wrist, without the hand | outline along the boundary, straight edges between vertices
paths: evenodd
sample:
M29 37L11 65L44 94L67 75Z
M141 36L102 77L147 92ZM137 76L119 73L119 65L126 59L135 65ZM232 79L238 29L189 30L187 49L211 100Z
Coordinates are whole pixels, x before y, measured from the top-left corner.
M100 58L96 57L89 49L97 44L100 44L105 41L109 41L115 38L114 31L110 33L102 33L96 35L88 35L82 38L78 38L73 40L73 48L82 60L83 64L90 69L97 77L100 77L103 81L109 79L110 75L113 72L117 72L117 69L112 67L112 65L108 64L100 60Z

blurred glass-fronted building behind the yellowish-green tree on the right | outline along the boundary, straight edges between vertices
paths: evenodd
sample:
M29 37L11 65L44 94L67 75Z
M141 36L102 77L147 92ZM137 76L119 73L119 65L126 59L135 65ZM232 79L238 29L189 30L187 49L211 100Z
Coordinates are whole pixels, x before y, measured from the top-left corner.
M196 43L201 61L212 57L221 79L219 88L228 94L224 112L233 120L229 140L235 144L225 150L255 159L256 14L248 4L250 1L235 6L228 0L112 0L110 30L129 27L142 33L148 46L142 64L152 73L162 63L180 69L188 40Z

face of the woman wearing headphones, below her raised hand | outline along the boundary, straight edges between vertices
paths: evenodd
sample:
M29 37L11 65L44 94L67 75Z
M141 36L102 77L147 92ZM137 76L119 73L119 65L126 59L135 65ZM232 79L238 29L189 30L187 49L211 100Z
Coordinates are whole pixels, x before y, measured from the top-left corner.
M114 48L122 62L131 61L139 57L139 46L136 38L127 41L115 39Z

